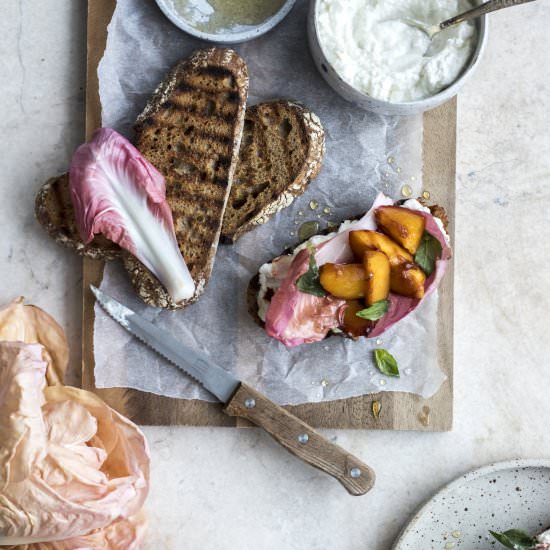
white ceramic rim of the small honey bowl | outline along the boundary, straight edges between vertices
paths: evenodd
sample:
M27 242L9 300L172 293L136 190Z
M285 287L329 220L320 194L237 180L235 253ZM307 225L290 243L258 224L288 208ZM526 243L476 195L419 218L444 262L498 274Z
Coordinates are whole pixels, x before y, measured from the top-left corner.
M164 13L164 15L166 15L166 17L168 17L168 19L170 19L176 27L179 27L186 33L197 38L201 38L202 40L207 40L208 42L216 42L218 44L237 44L239 42L252 40L253 38L257 38L258 36L270 31L275 25L280 23L286 15L288 15L296 0L286 0L286 2L280 7L279 11L258 25L245 30L220 33L203 32L193 27L189 21L187 21L176 11L173 0L156 0L156 2L162 10L162 13Z

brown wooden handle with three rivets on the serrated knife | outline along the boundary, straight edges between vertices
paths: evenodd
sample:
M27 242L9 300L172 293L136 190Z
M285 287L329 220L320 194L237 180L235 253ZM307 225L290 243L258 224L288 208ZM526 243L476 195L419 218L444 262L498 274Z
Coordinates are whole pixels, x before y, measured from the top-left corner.
M224 412L263 428L292 454L336 478L352 495L364 495L374 485L369 466L246 384L239 386Z

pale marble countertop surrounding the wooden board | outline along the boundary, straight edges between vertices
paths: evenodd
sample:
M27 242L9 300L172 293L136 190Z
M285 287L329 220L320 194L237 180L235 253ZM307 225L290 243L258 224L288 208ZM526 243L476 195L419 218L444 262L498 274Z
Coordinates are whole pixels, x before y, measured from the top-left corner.
M81 262L42 232L33 200L83 137L84 4L5 2L0 18L0 302L23 294L53 314L75 366ZM550 455L550 5L490 19L459 96L453 431L327 431L377 472L352 498L261 431L146 428L147 548L385 550L457 475Z

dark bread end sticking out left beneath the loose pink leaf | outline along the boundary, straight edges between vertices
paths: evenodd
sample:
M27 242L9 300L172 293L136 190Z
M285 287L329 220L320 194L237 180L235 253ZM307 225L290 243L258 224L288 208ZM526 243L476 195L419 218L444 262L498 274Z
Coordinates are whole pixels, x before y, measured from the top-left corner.
M120 256L118 245L103 235L96 235L89 244L82 242L69 193L69 174L50 178L40 188L35 200L35 214L50 237L79 254L96 260L111 260Z

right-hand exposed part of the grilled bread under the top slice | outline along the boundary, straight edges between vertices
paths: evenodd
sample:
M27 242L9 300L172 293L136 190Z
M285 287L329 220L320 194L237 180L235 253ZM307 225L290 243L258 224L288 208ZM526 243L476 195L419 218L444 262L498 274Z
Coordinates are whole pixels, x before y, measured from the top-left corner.
M235 241L301 195L321 169L325 134L311 111L272 101L246 111L239 162L223 220Z

